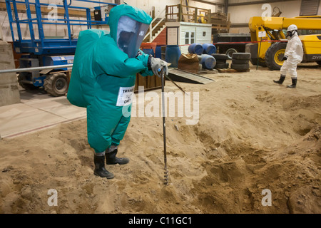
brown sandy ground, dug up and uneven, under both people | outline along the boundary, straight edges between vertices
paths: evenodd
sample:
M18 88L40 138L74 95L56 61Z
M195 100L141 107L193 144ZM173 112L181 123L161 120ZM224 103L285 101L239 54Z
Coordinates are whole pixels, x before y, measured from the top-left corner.
M2 139L0 213L321 213L321 68L301 65L296 89L255 66L178 83L199 93L200 118L166 118L168 186L160 117L131 119L113 180L93 175L86 119Z

